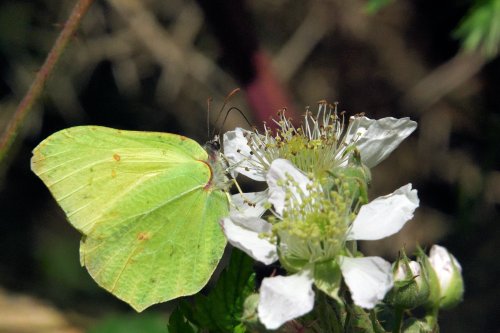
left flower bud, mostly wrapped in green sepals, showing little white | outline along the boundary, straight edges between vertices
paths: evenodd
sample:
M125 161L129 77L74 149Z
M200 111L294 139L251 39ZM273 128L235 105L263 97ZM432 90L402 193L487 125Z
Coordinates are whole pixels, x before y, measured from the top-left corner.
M421 264L410 261L406 254L394 264L394 288L386 300L394 307L413 309L424 304L429 297L429 284Z

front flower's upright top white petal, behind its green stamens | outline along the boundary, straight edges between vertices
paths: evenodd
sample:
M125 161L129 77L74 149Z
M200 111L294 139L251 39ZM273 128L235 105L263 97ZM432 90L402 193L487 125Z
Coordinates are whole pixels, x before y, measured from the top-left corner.
M302 194L299 193L299 189L290 186L284 186L280 182L292 178L296 183ZM311 183L309 178L297 169L292 162L285 159L276 159L271 163L269 172L266 176L267 184L269 186L269 202L273 204L274 210L279 214L283 214L283 208L285 207L285 197L287 190L291 191L297 199L304 195L307 196L309 190L308 185Z

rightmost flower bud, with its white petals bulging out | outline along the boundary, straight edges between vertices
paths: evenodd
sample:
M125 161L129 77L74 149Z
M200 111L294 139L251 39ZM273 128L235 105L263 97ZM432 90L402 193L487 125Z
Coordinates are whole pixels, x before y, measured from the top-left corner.
M444 247L434 245L429 253L428 262L435 273L435 279L431 283L439 286L437 297L431 295L432 306L439 305L441 309L456 306L462 301L464 294L462 267L457 259Z

